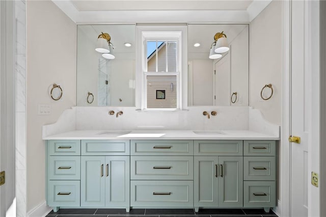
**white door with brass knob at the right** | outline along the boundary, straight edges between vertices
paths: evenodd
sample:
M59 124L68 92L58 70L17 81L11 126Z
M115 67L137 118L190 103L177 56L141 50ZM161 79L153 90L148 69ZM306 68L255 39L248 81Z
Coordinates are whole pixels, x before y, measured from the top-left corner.
M292 66L290 133L301 137L300 144L290 143L291 216L308 216L308 133L310 97L309 73L305 70L305 1L292 1ZM310 75L311 76L311 75ZM310 87L311 88L311 87Z

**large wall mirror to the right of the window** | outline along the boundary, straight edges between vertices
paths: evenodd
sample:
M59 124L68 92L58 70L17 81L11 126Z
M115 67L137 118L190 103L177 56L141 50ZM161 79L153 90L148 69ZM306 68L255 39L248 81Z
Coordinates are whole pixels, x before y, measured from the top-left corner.
M216 33L229 51L209 59ZM249 25L188 25L188 105L249 105Z

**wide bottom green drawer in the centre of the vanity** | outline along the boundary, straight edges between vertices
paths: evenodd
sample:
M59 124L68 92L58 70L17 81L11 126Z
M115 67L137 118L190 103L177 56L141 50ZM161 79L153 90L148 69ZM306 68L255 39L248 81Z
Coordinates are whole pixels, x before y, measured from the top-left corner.
M130 181L130 206L193 207L193 181Z

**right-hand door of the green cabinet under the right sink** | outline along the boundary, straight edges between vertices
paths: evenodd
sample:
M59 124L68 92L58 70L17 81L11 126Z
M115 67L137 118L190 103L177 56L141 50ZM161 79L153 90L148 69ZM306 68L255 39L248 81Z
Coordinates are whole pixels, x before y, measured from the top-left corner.
M243 206L243 157L220 156L219 207Z

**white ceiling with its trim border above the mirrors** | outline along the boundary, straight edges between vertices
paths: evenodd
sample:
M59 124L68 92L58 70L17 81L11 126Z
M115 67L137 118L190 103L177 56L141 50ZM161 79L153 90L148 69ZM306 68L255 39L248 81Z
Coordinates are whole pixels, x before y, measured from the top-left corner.
M77 24L249 23L272 0L52 0Z

